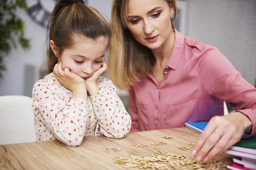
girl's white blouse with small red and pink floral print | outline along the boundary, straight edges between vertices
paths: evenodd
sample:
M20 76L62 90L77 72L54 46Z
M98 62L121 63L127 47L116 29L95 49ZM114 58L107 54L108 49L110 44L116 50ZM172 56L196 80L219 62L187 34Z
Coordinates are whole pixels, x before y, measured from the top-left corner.
M33 87L33 111L37 141L58 139L79 146L83 137L105 135L122 138L131 128L131 117L111 80L100 76L98 93L71 99L72 92L53 73Z

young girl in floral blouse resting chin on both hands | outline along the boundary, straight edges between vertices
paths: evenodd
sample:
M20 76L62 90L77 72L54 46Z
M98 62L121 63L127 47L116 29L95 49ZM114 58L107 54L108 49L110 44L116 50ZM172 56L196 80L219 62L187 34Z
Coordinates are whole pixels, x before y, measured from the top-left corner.
M131 117L111 80L101 77L111 29L97 10L60 0L49 20L48 75L33 87L37 141L79 146L83 137L122 138Z

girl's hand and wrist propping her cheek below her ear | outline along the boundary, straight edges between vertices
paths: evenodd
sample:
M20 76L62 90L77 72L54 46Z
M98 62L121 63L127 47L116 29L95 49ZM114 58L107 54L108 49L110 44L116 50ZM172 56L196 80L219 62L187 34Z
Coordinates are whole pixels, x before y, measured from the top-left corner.
M86 82L82 77L70 72L68 68L62 70L61 62L55 64L53 74L65 88L72 91L72 98L87 100Z

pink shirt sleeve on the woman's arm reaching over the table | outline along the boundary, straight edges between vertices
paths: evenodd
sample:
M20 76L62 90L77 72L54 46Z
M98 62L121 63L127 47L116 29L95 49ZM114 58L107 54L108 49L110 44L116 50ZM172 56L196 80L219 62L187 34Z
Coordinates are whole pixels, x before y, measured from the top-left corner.
M202 55L198 73L203 86L212 96L229 102L234 110L247 115L252 122L252 132L248 137L256 136L255 87L243 79L218 49L207 48Z

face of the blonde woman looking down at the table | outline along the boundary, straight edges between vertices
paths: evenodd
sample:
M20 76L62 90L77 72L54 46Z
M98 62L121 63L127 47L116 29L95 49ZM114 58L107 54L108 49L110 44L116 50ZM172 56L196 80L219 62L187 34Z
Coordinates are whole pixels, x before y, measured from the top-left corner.
M128 29L139 43L157 49L170 39L173 12L164 0L129 0Z

